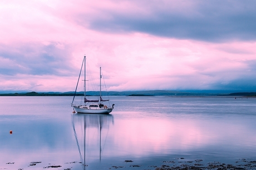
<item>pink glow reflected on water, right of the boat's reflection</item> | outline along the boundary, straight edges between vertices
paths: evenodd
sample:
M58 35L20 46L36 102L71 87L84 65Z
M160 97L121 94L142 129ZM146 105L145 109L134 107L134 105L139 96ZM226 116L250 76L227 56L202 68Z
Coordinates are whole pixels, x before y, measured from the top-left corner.
M220 121L216 123L211 120L123 120L117 125L111 136L116 147L125 153L145 152L170 153L173 150L190 150L205 146L227 143L235 145L235 142L243 141L238 135L247 131L240 125ZM220 126L219 126L220 125ZM247 131L247 133L249 133ZM248 135L248 134L247 134ZM246 135L246 136L247 136ZM254 135L250 134L248 145L255 141ZM230 143L234 141L234 143Z

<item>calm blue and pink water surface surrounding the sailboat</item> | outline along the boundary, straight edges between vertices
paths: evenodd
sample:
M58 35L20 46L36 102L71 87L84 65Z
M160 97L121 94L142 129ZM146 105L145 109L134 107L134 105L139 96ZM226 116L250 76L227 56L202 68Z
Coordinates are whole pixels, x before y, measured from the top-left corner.
M155 169L163 161L256 159L255 99L110 99L111 115L84 115L72 114L72 97L0 97L0 169Z

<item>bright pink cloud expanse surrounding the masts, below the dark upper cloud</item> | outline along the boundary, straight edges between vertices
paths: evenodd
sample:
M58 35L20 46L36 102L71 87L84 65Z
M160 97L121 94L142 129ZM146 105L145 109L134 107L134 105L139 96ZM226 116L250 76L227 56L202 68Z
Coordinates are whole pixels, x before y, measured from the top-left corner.
M109 90L214 89L215 84L229 84L255 75L248 64L248 61L256 59L255 41L203 42L136 30L102 31L93 29L91 25L95 19L111 19L113 13L149 17L157 10L166 11L169 7L173 13L186 17L191 14L200 16L195 10L198 2L2 2L0 16L4 17L0 18L0 44L8 48L0 51L0 87L71 91L75 88L76 75L85 54L96 78L99 66L102 66ZM33 52L26 53L24 47L33 49ZM22 53L24 55L14 56ZM42 54L54 56L55 64L48 61L41 66ZM17 57L19 61L15 59ZM26 66L21 60L24 63L33 60L34 63ZM36 68L36 64L46 70L53 64L52 69L55 68L58 74L26 75L17 72L11 77L4 71L14 67ZM63 83L65 87L60 87Z

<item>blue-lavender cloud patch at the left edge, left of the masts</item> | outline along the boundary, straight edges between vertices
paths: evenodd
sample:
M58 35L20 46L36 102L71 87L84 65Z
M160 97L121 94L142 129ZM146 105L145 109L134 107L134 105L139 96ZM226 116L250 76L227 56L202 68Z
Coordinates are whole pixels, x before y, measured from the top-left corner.
M72 67L67 63L71 55L68 45L65 49L58 47L60 44L47 45L26 43L1 45L0 48L0 73L2 75L58 75L67 76L67 69Z

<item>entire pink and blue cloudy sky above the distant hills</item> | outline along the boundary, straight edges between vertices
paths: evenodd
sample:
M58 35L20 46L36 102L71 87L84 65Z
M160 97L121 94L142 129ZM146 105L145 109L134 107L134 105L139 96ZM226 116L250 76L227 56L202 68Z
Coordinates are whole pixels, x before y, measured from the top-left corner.
M1 1L0 91L256 91L254 1Z

